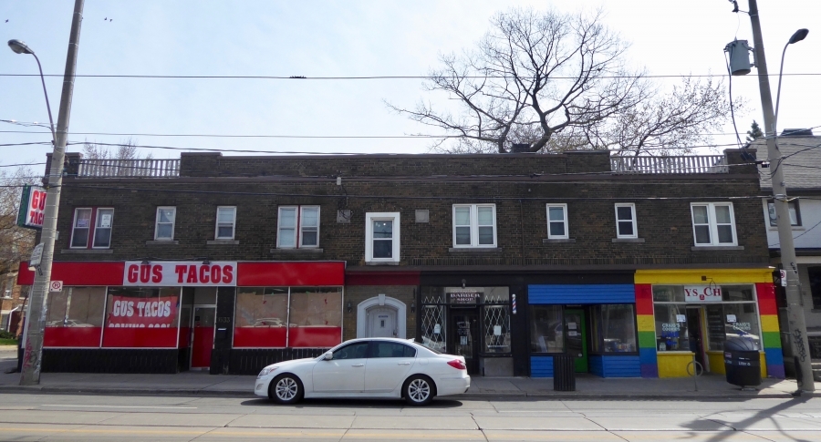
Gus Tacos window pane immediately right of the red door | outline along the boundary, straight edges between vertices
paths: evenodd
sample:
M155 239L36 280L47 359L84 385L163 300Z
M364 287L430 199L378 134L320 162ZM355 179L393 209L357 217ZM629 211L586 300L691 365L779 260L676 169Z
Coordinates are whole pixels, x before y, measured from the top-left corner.
M234 347L286 347L287 287L237 288Z

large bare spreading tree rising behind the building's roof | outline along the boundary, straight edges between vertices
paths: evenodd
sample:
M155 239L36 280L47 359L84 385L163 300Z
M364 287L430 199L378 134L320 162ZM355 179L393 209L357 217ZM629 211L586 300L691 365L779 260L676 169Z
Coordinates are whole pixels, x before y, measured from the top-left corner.
M721 84L685 79L666 95L627 67L627 44L601 24L602 12L511 9L494 15L472 50L441 58L428 91L454 111L421 101L388 106L451 136L434 151L683 149L718 127L729 105ZM456 141L452 142L455 138Z

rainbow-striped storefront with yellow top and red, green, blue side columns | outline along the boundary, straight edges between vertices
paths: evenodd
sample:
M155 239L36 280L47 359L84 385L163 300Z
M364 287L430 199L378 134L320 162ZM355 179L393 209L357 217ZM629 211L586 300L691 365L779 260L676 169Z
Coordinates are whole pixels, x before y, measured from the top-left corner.
M772 281L771 269L636 272L642 375L687 376L693 361L723 374L724 342L741 338L761 350L762 375L784 377Z

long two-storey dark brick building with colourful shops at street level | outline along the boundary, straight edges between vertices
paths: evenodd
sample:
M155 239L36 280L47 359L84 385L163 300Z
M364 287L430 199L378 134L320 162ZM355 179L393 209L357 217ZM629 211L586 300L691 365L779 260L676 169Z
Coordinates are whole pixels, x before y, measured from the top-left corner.
M398 336L474 375L570 354L676 376L693 356L722 372L741 335L784 374L758 173L735 150L67 161L44 370L254 374Z

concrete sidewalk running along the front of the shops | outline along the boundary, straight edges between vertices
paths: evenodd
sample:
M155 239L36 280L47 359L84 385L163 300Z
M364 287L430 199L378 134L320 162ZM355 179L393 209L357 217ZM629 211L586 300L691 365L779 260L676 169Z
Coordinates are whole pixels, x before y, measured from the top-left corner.
M8 353L8 355L6 355ZM0 352L9 361L11 352ZM10 362L10 361L9 361ZM110 395L193 395L254 396L255 376L209 375L207 372L184 372L178 375L115 375L88 373L44 373L40 385L20 386L18 373L0 372L0 394L13 391L44 393L85 393ZM756 391L741 391L727 384L722 375L704 375L698 379L698 391L691 378L640 379L577 375L575 392L553 390L551 378L479 377L474 376L464 399L556 398L556 399L729 399L789 398L795 391L795 380L764 379ZM816 390L821 383L816 383Z

